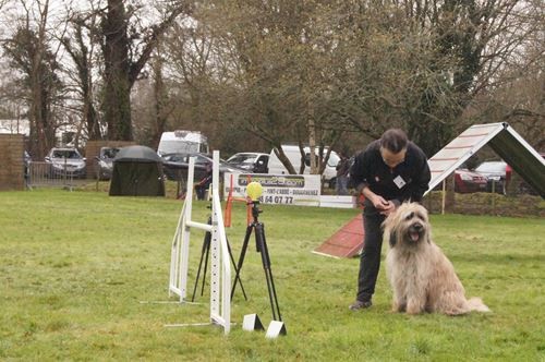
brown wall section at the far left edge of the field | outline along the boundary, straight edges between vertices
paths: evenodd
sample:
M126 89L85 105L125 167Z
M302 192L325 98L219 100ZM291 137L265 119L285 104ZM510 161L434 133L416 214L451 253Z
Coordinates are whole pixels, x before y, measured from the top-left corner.
M0 191L24 190L24 135L0 134Z

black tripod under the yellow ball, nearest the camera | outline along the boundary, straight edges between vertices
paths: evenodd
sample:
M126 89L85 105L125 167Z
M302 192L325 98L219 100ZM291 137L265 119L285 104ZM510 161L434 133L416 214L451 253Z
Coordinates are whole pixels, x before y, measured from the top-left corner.
M270 269L269 252L267 249L267 242L265 240L265 226L263 225L263 222L258 221L258 216L262 213L262 210L259 209L259 202L253 201L251 202L251 204L252 204L252 217L254 218L254 220L246 228L246 234L244 237L244 242L242 244L242 250L240 253L239 265L235 268L237 274L234 276L233 288L231 290L231 300L233 299L234 295L237 281L240 281L240 272L242 269L242 264L244 263L244 256L246 255L246 249L247 249L247 243L250 241L250 237L252 236L252 231L255 231L255 245L257 252L262 254L262 264L263 264L263 269L265 270L265 278L267 280L267 290L269 293L270 309L272 310L272 319L281 322L282 316L280 315L280 306L278 305L278 298L275 289L275 280L272 279L272 270Z

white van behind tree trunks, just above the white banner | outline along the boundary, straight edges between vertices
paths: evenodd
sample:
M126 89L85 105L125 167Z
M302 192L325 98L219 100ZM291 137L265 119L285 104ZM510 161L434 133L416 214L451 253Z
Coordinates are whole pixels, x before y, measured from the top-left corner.
M283 153L290 160L291 165L293 165L293 168L295 169L295 172L299 172L301 169L301 152L299 150L298 145L282 145ZM304 147L303 148L305 152L305 169L304 172L305 174L311 173L311 147ZM315 148L315 154L316 156L318 155L319 149L318 147ZM327 147L324 148L324 154L327 153ZM322 174L322 179L324 181L329 182L329 185L335 184L335 179L337 177L337 164L339 162L340 157L339 155L335 152L331 150L329 154L329 159L327 160L326 168L324 170L324 173ZM269 155L269 172L270 174L287 174L289 173L283 164L278 159L278 157L275 154L275 150L270 150Z

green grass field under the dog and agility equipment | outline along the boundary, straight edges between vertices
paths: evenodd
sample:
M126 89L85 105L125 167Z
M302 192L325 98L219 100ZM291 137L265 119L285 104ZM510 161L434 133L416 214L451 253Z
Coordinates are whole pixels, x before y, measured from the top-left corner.
M108 197L104 192L0 193L0 360L177 361L544 361L545 221L537 218L433 215L434 238L452 261L468 297L489 314L408 316L390 312L380 270L374 305L353 313L359 261L311 251L356 210L264 205L278 299L288 336L241 328L244 314L271 318L265 275L249 248L229 335L201 305L168 299L170 243L182 203ZM206 203L194 218L206 220ZM238 258L245 212L228 237ZM190 290L201 254L193 233ZM383 254L386 248L383 250Z

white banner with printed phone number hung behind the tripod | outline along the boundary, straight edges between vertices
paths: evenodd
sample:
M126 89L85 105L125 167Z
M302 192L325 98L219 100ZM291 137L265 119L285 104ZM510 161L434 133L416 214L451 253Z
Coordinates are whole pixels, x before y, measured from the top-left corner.
M252 181L263 186L262 204L319 206L319 174L225 173L226 200L230 188L233 197L246 197L246 186Z

